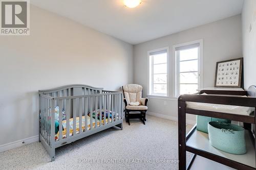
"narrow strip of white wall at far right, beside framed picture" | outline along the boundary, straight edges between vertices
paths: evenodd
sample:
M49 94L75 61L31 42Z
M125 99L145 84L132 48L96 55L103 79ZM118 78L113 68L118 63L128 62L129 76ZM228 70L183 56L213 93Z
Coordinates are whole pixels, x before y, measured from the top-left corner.
M249 27L251 24L251 32ZM243 56L244 56L244 85L256 85L256 1L245 0L242 12Z

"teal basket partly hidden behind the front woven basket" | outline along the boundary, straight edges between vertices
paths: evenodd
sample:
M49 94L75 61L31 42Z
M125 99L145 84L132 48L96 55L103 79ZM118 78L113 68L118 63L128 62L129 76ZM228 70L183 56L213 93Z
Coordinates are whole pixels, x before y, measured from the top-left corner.
M231 120L227 120L227 119L197 115L197 130L204 133L208 133L208 122L212 122L212 121L223 122L227 124L231 123Z

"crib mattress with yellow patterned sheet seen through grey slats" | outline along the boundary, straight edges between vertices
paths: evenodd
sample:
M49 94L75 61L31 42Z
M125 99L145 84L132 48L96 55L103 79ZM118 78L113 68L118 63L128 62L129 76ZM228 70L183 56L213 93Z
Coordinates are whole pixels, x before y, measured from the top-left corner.
M117 118L118 118L118 113L117 113ZM91 117L87 115L87 130L91 129L91 124L90 124L90 119ZM115 118L114 118L115 119ZM110 122L112 122L112 119L110 118ZM82 116L82 132L86 131L86 126L85 126L85 116ZM73 135L73 118L69 119L69 136ZM101 120L101 124L104 125L104 119ZM108 118L106 118L106 124L108 124ZM67 120L62 120L62 138L67 137ZM99 127L99 120L97 119L97 127ZM95 128L95 118L93 118L93 128ZM79 117L76 117L76 134L79 133ZM59 140L59 132L55 134L55 141Z

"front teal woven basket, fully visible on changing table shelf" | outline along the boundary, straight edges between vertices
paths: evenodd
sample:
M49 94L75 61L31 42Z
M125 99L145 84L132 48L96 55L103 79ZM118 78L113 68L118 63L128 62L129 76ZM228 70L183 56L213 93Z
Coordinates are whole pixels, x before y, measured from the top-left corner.
M208 133L212 147L230 154L241 155L246 153L243 127L220 122L209 122Z

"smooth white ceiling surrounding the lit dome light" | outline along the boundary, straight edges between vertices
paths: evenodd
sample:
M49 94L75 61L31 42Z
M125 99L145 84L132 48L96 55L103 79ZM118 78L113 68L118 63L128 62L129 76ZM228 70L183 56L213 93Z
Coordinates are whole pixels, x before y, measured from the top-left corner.
M194 28L242 12L244 0L31 0L30 3L131 44Z

